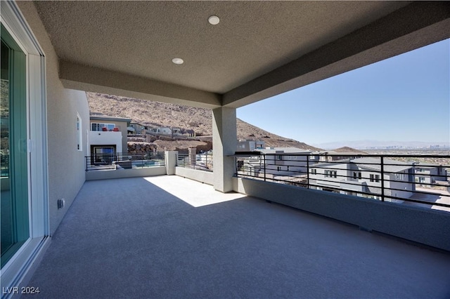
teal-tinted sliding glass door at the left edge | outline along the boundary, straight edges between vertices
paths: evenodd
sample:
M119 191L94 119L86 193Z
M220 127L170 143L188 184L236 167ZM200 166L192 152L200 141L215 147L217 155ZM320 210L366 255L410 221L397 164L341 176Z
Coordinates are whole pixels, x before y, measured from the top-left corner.
M1 267L30 237L26 57L1 25Z

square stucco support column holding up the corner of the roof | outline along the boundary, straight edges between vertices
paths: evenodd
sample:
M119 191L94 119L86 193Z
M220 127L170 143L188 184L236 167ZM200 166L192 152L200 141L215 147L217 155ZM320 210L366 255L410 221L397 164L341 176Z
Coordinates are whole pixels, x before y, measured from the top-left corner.
M236 152L236 108L220 107L212 110L212 150L214 189L233 191L234 157Z

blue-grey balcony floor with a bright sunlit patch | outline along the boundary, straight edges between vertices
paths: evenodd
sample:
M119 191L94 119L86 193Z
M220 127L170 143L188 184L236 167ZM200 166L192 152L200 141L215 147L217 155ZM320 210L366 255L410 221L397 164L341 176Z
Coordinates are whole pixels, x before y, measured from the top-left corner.
M52 239L34 298L450 297L449 254L175 175L87 181Z

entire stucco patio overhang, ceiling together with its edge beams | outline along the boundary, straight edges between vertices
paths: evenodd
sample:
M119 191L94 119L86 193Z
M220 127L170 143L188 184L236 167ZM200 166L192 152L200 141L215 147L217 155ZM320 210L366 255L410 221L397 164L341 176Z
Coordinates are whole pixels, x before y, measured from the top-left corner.
M211 109L248 105L450 36L450 6L434 1L34 4L66 88ZM210 15L221 22L210 25Z

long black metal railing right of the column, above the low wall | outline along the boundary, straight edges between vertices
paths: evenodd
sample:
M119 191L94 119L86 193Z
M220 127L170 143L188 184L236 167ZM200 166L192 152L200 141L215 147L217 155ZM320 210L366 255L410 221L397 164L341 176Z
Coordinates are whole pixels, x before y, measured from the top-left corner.
M238 177L446 211L449 174L449 155L236 154Z

